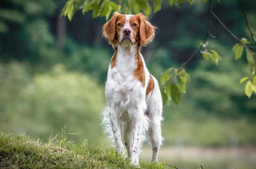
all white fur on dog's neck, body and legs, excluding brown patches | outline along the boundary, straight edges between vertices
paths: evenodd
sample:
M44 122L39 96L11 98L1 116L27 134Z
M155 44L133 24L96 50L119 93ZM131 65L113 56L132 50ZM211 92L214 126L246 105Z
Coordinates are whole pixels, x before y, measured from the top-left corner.
M137 43L117 43L116 47L115 67L109 65L106 81L108 106L102 112L104 130L115 141L117 152L123 155L125 144L127 156L135 165L139 165L140 148L148 135L153 149L152 161L158 161L162 143L162 98L158 82L152 76L154 90L146 96L150 73L141 54L145 71L144 87L133 74L137 68Z

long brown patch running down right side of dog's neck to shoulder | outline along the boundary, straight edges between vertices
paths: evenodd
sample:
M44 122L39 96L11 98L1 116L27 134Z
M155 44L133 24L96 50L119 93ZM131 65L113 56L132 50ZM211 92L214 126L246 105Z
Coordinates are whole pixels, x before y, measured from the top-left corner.
M139 48L137 49L137 68L133 71L133 75L141 82L142 86L145 86L145 70L143 67L143 61L141 60L141 55L139 53Z

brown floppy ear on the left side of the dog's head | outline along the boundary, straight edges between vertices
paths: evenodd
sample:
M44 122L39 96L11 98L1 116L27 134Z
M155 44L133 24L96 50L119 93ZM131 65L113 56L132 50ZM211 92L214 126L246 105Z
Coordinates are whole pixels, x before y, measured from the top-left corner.
M109 40L109 43L113 43L113 40L115 39L115 33L116 33L116 18L118 13L115 12L115 14L112 16L112 18L106 22L102 27L103 36Z

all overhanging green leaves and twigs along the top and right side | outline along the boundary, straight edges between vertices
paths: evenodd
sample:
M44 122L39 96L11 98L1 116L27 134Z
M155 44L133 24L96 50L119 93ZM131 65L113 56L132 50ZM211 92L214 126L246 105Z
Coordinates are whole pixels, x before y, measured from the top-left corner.
M170 6L179 6L179 4L182 4L186 1L189 2L190 5L195 2L195 0L168 0ZM198 49L195 50L180 67L170 67L162 74L161 93L164 103L169 104L170 100L172 100L175 104L180 103L181 93L186 93L186 83L190 81L190 76L188 73L186 73L185 66L199 52L202 54L203 59L211 60L213 61L213 63L215 63L215 65L218 65L219 61L221 61L221 57L217 53L217 51L207 48L207 39L209 37L215 38L215 36L211 35L210 33L211 16L213 16L221 24L221 26L234 39L236 39L236 41L239 42L235 44L232 49L235 53L236 60L242 57L243 51L245 49L251 75L249 77L243 77L240 80L240 83L247 81L245 86L245 94L246 96L248 96L248 98L251 97L253 92L256 93L256 53L251 50L256 49L256 46L251 46L250 42L246 38L238 38L227 28L227 26L221 21L221 19L211 10L212 0L202 1L205 3L209 2L207 31L205 37ZM221 3L220 0L217 1ZM254 39L255 35L252 33L248 24L243 0L240 0L240 3L246 20L247 28L252 37L252 41L256 45L256 41ZM118 11L125 14L137 14L139 12L144 12L144 14L148 16L152 13L152 9L154 9L154 12L161 10L161 4L162 0L68 0L63 9L61 10L61 16L68 16L69 20L72 20L74 13L78 10L82 10L83 14L92 10L92 17L105 16L106 20L109 19L112 11Z

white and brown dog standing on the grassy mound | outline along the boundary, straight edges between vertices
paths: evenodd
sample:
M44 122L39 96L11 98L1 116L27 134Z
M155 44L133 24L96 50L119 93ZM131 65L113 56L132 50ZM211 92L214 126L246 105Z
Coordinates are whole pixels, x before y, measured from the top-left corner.
M135 165L139 165L140 148L146 136L152 144L152 162L158 161L162 143L159 85L139 52L141 46L153 40L155 29L143 14L119 13L115 13L102 29L104 37L115 49L106 80L108 106L102 112L102 124L113 136L117 152L125 155L124 143L127 155Z

